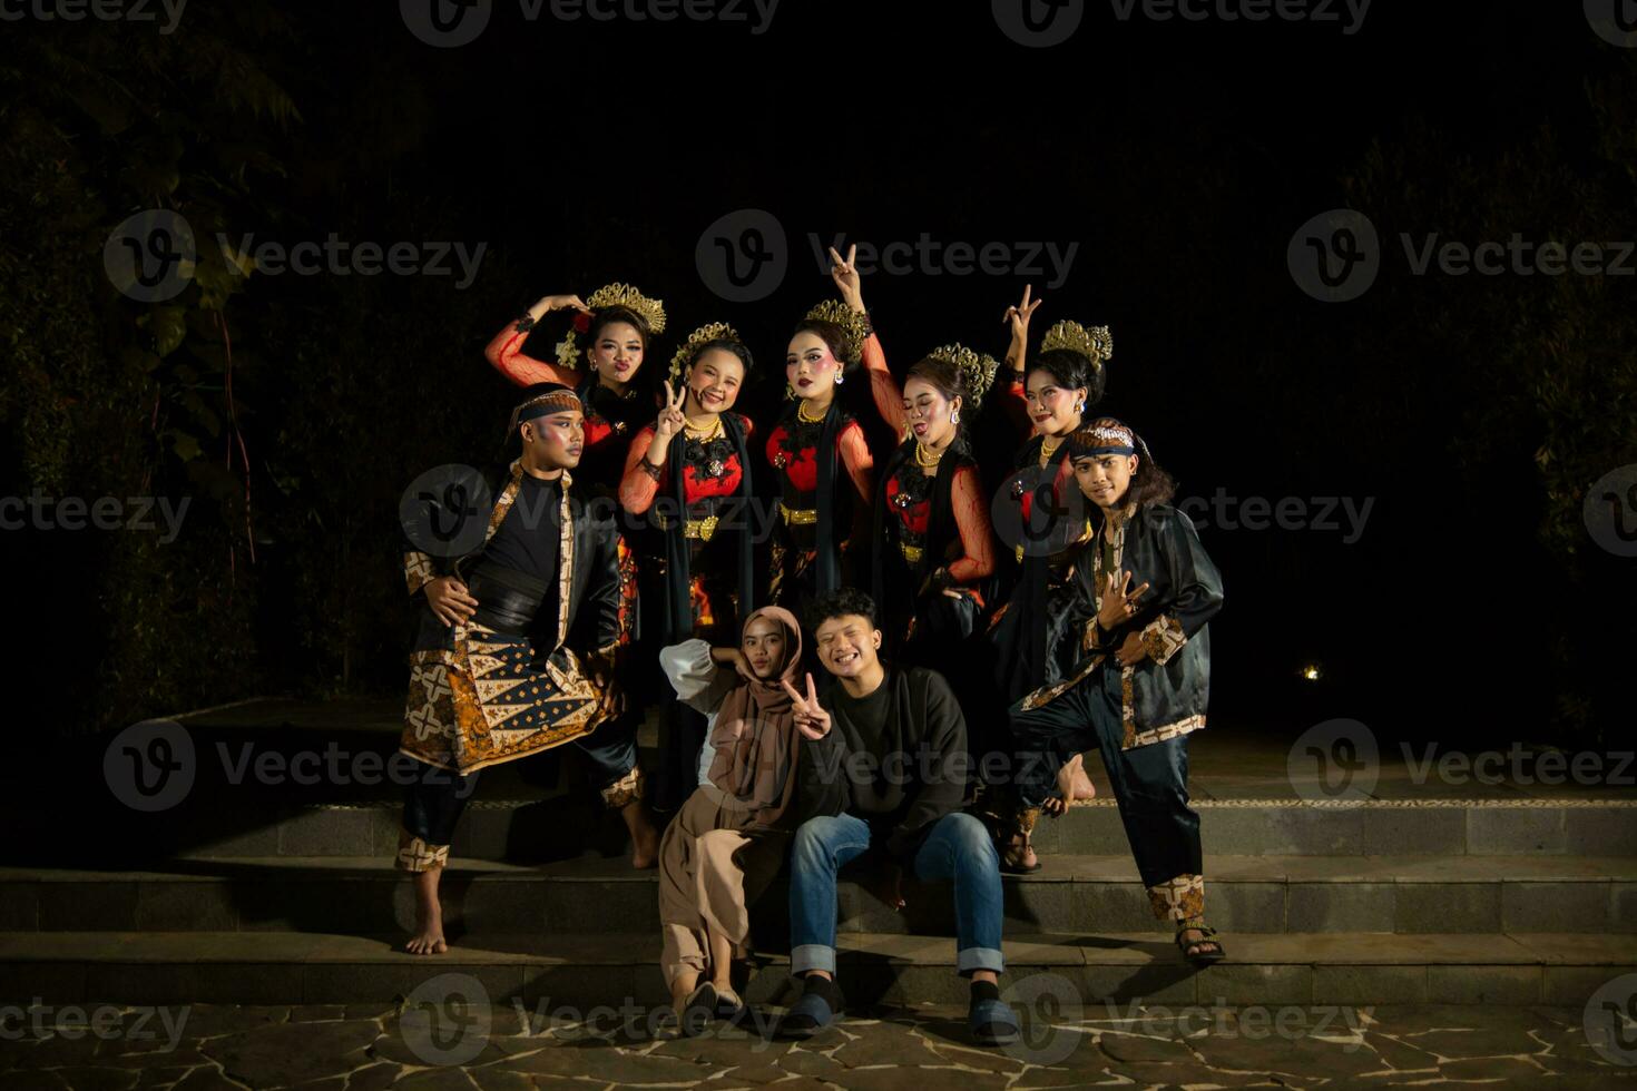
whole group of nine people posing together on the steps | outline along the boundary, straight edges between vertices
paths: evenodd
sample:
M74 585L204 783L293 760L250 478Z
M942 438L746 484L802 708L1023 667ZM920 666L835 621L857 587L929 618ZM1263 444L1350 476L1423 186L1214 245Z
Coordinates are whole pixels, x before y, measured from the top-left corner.
M951 882L972 1037L1015 1040L1000 875L1038 870L1038 818L1092 797L1087 749L1156 916L1187 960L1223 957L1187 793L1221 579L1144 440L1092 414L1107 327L1061 321L1030 355L1041 301L1025 290L1003 366L956 343L899 379L853 257L830 252L840 298L796 324L764 427L735 409L753 355L727 324L689 334L653 381L665 308L627 285L547 296L489 343L524 391L483 545L404 546L419 626L401 749L424 772L396 857L417 885L408 950L447 949L439 877L480 770L571 744L632 864L660 867L681 1032L743 1008L733 968L786 862L802 990L779 1034L838 1019L837 872L864 857L894 908L905 873ZM558 311L573 322L557 358L524 355ZM974 453L985 402L1020 445L989 468L1003 474ZM871 450L871 407L891 450ZM771 535L753 517L761 473ZM1005 548L992 512L1054 525Z

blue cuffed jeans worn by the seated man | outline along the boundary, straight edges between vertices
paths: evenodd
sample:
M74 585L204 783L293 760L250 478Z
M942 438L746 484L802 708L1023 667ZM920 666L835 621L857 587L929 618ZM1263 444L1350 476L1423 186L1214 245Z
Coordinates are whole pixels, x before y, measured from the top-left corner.
M791 847L791 973L835 973L835 873L869 849L863 818L809 818ZM940 818L920 852L922 882L954 882L956 970L1005 970L1000 955L1000 859L989 831L971 815Z

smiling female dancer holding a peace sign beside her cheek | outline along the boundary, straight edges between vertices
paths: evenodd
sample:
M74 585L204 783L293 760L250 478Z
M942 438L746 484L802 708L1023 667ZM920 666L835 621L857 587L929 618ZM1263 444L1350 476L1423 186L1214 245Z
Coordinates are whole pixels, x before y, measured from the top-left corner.
M679 386L666 386L658 419L632 437L625 455L620 507L650 515L661 532L663 553L642 563L645 617L658 620L661 646L692 636L728 644L756 605L751 422L732 412L751 363L727 324L694 330L671 360ZM699 783L706 720L674 703L665 710L656 806L674 810Z

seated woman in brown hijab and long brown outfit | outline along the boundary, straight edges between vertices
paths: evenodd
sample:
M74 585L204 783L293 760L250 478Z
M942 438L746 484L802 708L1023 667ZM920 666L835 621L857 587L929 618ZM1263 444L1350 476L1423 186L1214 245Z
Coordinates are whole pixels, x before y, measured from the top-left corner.
M660 960L684 1034L743 1008L732 970L750 954L748 906L800 823L800 736L784 690L800 658L800 625L781 607L751 613L738 648L688 640L660 653L678 698L712 718L701 757L709 772L660 844Z

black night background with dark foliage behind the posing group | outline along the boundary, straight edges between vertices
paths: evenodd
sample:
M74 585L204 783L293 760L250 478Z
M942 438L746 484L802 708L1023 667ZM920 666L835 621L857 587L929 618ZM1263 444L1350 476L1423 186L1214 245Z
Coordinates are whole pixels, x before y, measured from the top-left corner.
M1341 10L1341 8L1337 8ZM876 273L897 370L1107 324L1103 409L1179 496L1373 501L1364 535L1206 528L1228 602L1213 720L1355 716L1445 743L1630 739L1634 561L1581 520L1637 463L1630 276L1414 276L1398 244L1637 237L1637 51L1576 3L1377 0L1339 23L1120 21L1051 49L989 5L784 0L745 23L529 23L431 49L396 5L193 0L152 25L7 28L0 65L5 496L192 496L183 532L3 535L23 716L116 728L252 694L396 694L409 479L498 453L483 360L547 293L665 299L648 368L707 321L763 370L832 286L809 234L1079 244L1044 276ZM1303 294L1287 245L1355 208L1382 273ZM195 286L121 296L108 234L141 209L201 239ZM730 304L701 232L773 213L789 272ZM232 278L213 237L486 244L455 276ZM205 245L208 244L208 245ZM560 327L530 353L550 357ZM254 558L252 558L254 553ZM1298 677L1318 662L1321 679ZM34 703L31 712L28 707Z

